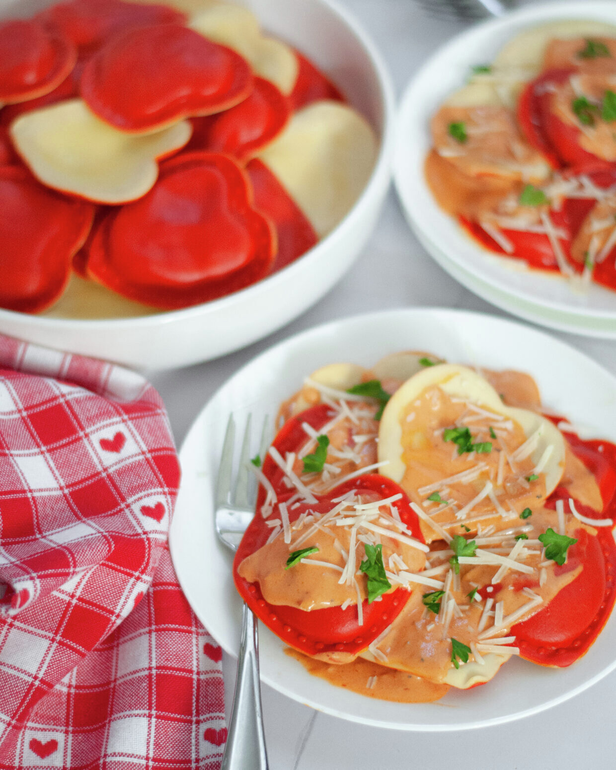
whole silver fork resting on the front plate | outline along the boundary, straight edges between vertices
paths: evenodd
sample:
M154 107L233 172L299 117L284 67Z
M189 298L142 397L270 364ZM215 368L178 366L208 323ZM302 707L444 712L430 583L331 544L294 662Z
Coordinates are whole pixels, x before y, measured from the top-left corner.
M249 493L250 415L239 456L235 487L233 486L233 444L236 426L233 414L226 427L223 453L220 457L216 480L215 524L219 540L236 551L246 527L254 515L254 500ZM267 440L267 418L263 421L261 447L263 457ZM236 689L229 720L225 754L221 770L268 770L261 686L259 681L259 638L256 617L244 604L242 611L242 639L237 660Z

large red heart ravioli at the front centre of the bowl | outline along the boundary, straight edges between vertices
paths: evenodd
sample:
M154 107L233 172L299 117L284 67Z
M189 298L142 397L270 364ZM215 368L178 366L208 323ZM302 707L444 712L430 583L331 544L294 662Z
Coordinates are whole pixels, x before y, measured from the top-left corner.
M112 209L89 244L89 276L162 309L214 300L271 269L276 234L228 156L188 152L161 163L146 196Z

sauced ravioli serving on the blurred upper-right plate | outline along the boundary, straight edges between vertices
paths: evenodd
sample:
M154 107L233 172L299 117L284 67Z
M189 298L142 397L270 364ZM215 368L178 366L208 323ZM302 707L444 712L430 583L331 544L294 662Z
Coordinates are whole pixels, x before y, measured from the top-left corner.
M427 183L470 236L577 288L616 290L616 25L522 32L430 131Z

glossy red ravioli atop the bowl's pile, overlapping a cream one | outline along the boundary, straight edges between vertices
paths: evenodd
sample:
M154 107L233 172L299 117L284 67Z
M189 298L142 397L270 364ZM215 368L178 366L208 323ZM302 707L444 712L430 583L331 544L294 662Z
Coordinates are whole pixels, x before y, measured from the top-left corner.
M233 107L253 89L253 75L231 49L161 24L110 40L85 65L81 89L100 119L140 133Z

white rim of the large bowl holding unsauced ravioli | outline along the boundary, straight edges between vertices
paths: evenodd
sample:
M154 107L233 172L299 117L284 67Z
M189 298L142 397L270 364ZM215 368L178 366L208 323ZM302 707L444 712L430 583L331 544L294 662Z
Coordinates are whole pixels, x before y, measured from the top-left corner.
M164 2L164 0L162 0ZM360 197L353 204L350 211L336 225L336 227L321 239L315 246L308 249L292 263L283 267L277 273L266 276L260 281L246 286L245 289L236 291L217 300L211 300L199 305L193 305L179 310L161 310L159 312L149 313L144 316L124 316L120 318L49 318L42 314L19 313L15 310L6 310L0 308L0 323L2 320L19 323L24 330L32 328L45 329L47 331L57 330L59 332L78 328L83 331L119 331L122 329L136 330L147 329L161 324L179 323L194 317L216 316L219 310L229 310L234 305L242 305L254 296L261 293L267 293L269 290L275 290L276 285L293 280L293 276L303 269L310 269L310 263L320 259L323 252L329 252L330 249L336 249L336 244L346 236L355 223L363 219L364 209L370 206L370 201L377 194L380 186L383 184L383 177L390 177L391 158L393 156L393 146L395 142L396 129L396 96L393 88L393 80L390 71L377 48L377 45L370 38L370 35L363 29L357 18L344 7L338 0L310 0L310 2L321 5L327 12L337 16L343 25L350 29L357 42L360 43L367 59L376 75L380 90L380 141L377 154L377 160L374 163L370 179Z

